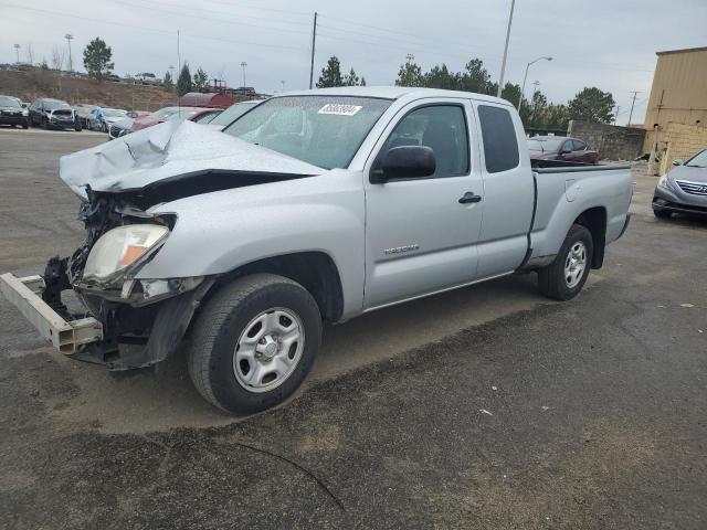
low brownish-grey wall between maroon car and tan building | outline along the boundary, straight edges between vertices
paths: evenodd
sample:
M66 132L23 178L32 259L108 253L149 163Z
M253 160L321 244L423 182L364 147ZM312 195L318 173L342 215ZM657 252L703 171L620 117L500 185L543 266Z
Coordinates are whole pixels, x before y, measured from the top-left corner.
M645 129L570 120L568 136L579 138L599 151L599 158L633 160L642 153Z

